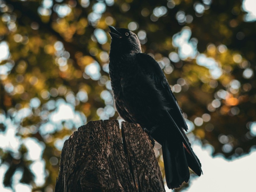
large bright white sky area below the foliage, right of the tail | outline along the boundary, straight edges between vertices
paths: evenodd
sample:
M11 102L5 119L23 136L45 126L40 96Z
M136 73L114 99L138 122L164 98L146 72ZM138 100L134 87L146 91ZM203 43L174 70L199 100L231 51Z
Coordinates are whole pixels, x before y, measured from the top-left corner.
M253 192L256 191L256 150L232 161L223 156L212 157L211 147L192 145L202 164L203 175L191 178L183 192ZM165 187L167 192L173 191Z

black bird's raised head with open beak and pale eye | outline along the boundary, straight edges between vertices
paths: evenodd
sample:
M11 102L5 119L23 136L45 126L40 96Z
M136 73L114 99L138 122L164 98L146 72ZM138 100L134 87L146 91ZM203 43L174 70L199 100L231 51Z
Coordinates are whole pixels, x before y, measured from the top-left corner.
M108 27L111 31L110 56L141 53L140 42L135 33L129 29Z

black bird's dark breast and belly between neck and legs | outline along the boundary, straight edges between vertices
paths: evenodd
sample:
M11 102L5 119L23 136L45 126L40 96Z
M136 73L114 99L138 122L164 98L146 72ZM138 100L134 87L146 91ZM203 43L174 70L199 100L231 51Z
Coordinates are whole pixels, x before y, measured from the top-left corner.
M156 125L164 104L152 79L138 67L119 68L115 65L110 66L109 71L115 105L120 116L128 122L145 127L149 124Z

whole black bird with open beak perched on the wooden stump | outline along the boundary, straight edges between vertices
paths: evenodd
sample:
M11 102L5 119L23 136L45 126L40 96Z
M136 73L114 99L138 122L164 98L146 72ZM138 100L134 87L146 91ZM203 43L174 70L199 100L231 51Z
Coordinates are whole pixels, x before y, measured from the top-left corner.
M136 34L109 26L109 75L117 112L139 123L162 145L166 183L189 181L189 167L200 176L201 163L184 132L188 130L177 100L157 61L142 53Z

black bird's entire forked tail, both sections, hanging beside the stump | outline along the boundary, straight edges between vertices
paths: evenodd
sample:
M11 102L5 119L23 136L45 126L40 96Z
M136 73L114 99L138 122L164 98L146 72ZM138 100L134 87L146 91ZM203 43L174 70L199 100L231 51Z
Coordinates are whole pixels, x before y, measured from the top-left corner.
M167 116L173 125L174 132L178 133L178 135L170 134L162 142L166 183L168 188L173 189L180 187L184 181L189 181L189 167L198 176L201 175L202 169L201 163L192 150L185 132L177 126L168 112ZM176 136L174 137L173 135Z

